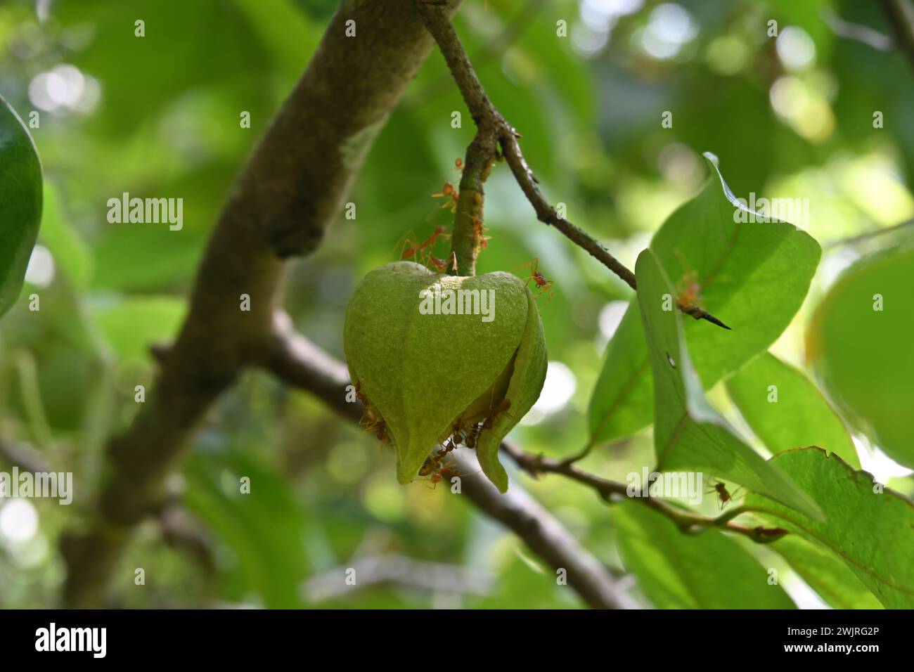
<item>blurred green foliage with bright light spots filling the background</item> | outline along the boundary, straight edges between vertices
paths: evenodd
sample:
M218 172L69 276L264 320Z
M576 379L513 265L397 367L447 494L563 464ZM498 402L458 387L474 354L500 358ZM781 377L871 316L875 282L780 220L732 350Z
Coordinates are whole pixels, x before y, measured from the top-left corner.
M329 0L0 5L0 95L23 118L31 111L40 117L40 126L29 130L45 172L38 244L47 252L33 255L24 291L40 294L40 311L29 311L20 298L0 323L0 438L30 445L56 469L73 471L80 484L72 507L32 500L29 512L0 504L0 605L56 603L63 580L58 535L65 526L80 524L101 478L105 438L133 417L135 386L153 382L147 346L175 334L197 261L233 180L307 64L334 7ZM810 315L839 273L877 245L877 239L853 245L840 240L914 216L909 64L899 53L835 36L824 23L826 10L890 32L876 3L851 0L465 0L456 18L486 90L523 133L526 158L547 197L566 204L568 219L630 268L654 231L699 191L707 176L704 151L719 157L738 197L752 192L809 199L811 218L802 229L825 253L806 303L780 337L778 329L766 333L751 352L708 376L707 384L732 373L775 337L774 355L806 369L803 335ZM145 21L146 37L133 37L138 18ZM768 36L771 19L778 21L781 37ZM557 37L558 20L568 22L569 37ZM335 357L343 357L343 315L355 283L395 261L406 236L425 238L449 222L449 213L430 194L457 181L454 159L473 136L468 114L462 128L451 127L452 111L462 110L443 59L432 54L367 157L350 197L356 219L341 216L321 249L296 264L286 304L303 333ZM250 112L250 129L239 126L241 112ZM664 112L673 113L670 128L661 124ZM874 128L875 112L884 115L883 128ZM107 200L124 192L183 197L184 228L110 224ZM520 274L522 264L537 257L539 270L556 282L554 298L539 304L552 362L543 403L512 437L532 453L575 453L590 439L591 393L632 293L585 252L538 224L503 166L487 184L485 206L492 240L478 272ZM685 254L687 263L698 264L702 234L696 229L690 237L688 223L678 228L679 235L683 245L694 245ZM681 269L674 248L659 251L671 276ZM747 333L753 328L749 311L776 311L784 300L782 284L798 282L789 269L779 267L772 275L737 306L745 312L740 325ZM840 306L845 296L829 301ZM712 313L715 300L711 287ZM801 298L790 301L799 304ZM795 311L792 305L783 322ZM632 315L629 320L640 329L638 315ZM874 315L869 318L882 314ZM897 354L897 360L905 357L901 335L910 333L914 320L909 311L898 315L891 323L894 336L878 346L880 355ZM616 347L628 347L626 334L637 346L638 336L632 336L637 329L626 331L625 322L619 328ZM703 347L693 335L716 328L687 325L688 347ZM833 327L824 328L824 337L832 338L827 330ZM859 331L835 332L835 343L866 342L883 326L856 322L854 328ZM848 355L837 349L830 357ZM849 374L849 385L867 370L864 363ZM910 389L909 379L898 380ZM837 387L824 392L848 399L848 388ZM723 385L710 389L708 398L754 447L783 445L769 432L753 435L755 418L746 412L743 421L738 408L745 404L737 399L734 405ZM650 421L652 399L650 389L642 390L632 407L634 420L612 435L613 443L596 446L583 463L588 470L624 480L653 464L651 431L635 432ZM844 407L840 411L845 421L852 415ZM904 411L891 413L897 419ZM869 424L877 423L869 418ZM866 431L864 424L853 429ZM886 435L877 429L868 441L878 444ZM914 489L907 469L889 462L863 434L855 439L865 469L881 481L893 478L903 493ZM839 440L845 442L841 453L846 436ZM504 529L443 486L397 485L393 455L379 452L376 439L262 374L245 375L219 400L194 448L171 485L183 493L211 544L212 566L162 529L144 526L113 581L119 603L581 605ZM897 449L890 454L900 459ZM828 468L845 468L833 460ZM0 468L6 468L2 458ZM825 467L804 474L819 468ZM250 496L239 494L245 475L252 482ZM614 571L634 572L641 581L634 591L648 604L720 605L711 598L727 587L713 583L683 597L685 589L673 582L684 579L682 563L727 554L736 559L734 567L758 565L763 575L759 560L771 555L771 549L737 546L717 532L705 539L677 538L666 521L636 511L632 503L607 507L589 490L558 477L535 483L512 472L511 479L513 487L528 487ZM802 485L808 484L802 480ZM896 507L895 499L890 506ZM708 500L704 512L713 515L716 509ZM898 519L887 525L909 529L907 514L890 513ZM625 534L627 544L618 543ZM663 544L644 546L648 538ZM841 544L835 536L832 545ZM857 572L859 581L851 585L845 564L823 548L792 547L782 555L800 568L792 581L804 578L825 603L872 606L863 585L889 603L907 599L888 583L867 579L866 572ZM343 572L369 555L459 566L455 572L472 568L491 582L485 591L418 590L397 583L329 595L309 590L314 577ZM810 571L813 561L823 569ZM707 572L691 571L685 580L704 576L719 582L716 565L717 560ZM136 567L146 569L144 589L133 584ZM895 564L885 567L889 583L900 571ZM789 606L781 588L774 588L741 592L739 604L727 605ZM817 603L809 592L792 592L790 581L785 589L801 606ZM702 596L708 599L698 599Z

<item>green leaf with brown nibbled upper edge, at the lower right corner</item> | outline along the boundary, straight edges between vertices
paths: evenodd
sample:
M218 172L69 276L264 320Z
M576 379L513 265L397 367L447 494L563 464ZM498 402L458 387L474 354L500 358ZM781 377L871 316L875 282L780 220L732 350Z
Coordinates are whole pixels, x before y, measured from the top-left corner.
M914 607L914 503L877 487L872 475L856 471L821 448L785 451L771 462L815 500L825 519L798 516L751 494L744 506L778 527L831 549L888 609ZM775 541L773 548L778 549L779 543Z

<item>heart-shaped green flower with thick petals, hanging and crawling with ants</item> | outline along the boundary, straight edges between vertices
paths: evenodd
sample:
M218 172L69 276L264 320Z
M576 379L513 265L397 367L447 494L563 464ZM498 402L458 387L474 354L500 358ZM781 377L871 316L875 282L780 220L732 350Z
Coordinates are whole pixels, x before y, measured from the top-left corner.
M526 283L397 261L369 272L346 307L349 374L397 451L407 484L454 426L473 427L483 473L507 490L498 446L546 379L546 340ZM465 436L465 434L464 434Z

